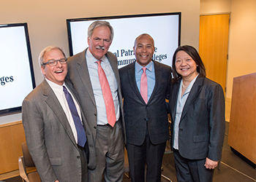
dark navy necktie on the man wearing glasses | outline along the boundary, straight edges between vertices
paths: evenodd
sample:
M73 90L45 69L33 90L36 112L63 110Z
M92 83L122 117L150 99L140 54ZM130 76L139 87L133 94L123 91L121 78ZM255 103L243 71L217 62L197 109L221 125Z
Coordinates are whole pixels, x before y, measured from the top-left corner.
M65 86L63 86L63 91L64 91L64 95L67 99L67 103L69 105L69 109L71 111L72 118L75 123L75 129L78 132L78 146L84 147L84 145L86 144L86 131L84 130L83 125L81 123L80 117L78 115L78 110L75 107L74 100L72 99L72 96L67 91L67 88Z

